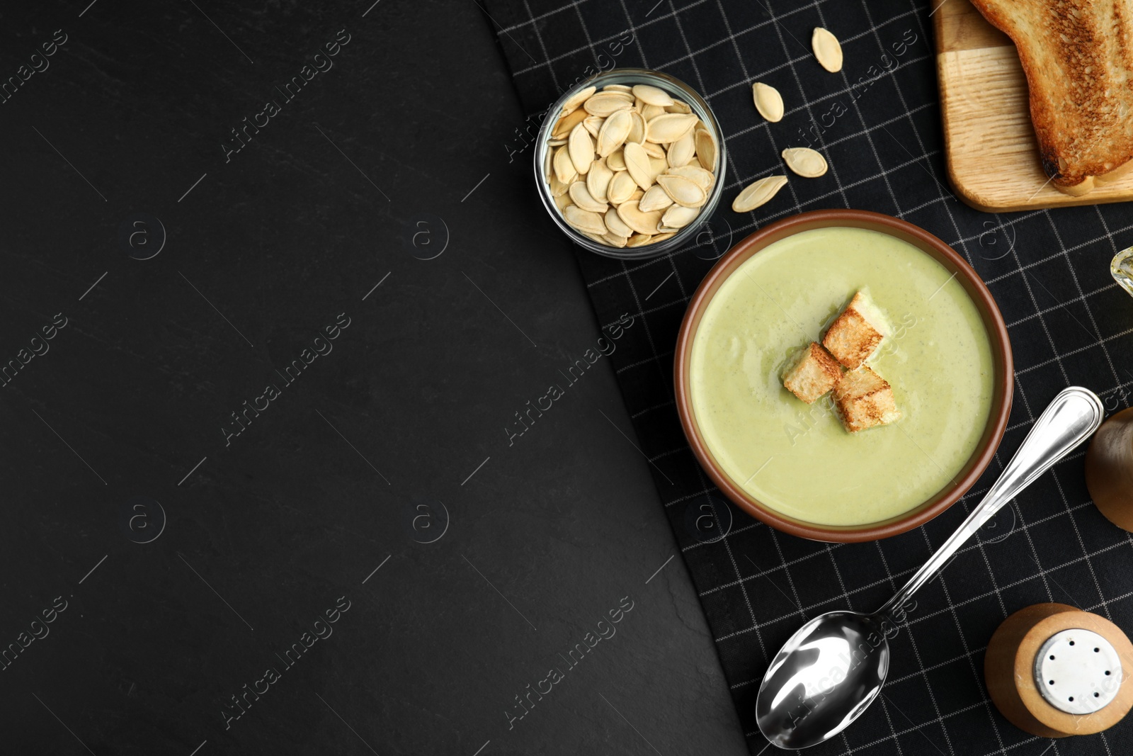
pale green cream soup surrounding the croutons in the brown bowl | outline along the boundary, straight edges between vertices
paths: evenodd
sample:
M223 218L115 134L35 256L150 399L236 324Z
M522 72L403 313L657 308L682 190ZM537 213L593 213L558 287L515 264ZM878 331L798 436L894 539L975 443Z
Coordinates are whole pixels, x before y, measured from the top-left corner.
M783 374L859 289L889 321L869 365L902 418L849 433L830 394L807 405ZM943 265L885 233L824 228L729 277L700 321L689 377L705 443L736 485L800 520L864 525L955 485L990 414L994 367L979 312Z

